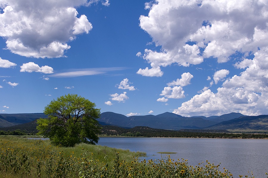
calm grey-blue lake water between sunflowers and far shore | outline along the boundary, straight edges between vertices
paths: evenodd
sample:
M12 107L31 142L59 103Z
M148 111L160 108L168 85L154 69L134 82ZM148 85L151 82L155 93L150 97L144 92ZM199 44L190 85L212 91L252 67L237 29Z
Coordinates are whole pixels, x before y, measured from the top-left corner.
M221 163L220 171L225 167L233 177L250 177L248 171L253 171L256 178L267 178L268 173L268 139L102 137L97 145L146 152L146 160L161 159L157 152L177 152L170 154L172 159L188 159L193 166L206 160L215 165Z

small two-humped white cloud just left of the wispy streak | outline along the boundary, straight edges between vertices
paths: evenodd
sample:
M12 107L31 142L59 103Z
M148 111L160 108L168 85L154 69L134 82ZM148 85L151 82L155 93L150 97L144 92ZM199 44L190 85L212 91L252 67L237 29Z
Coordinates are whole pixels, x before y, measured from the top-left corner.
M44 74L52 74L53 68L49 67L47 65L39 67L38 64L35 64L33 62L24 63L21 66L21 72L40 72Z

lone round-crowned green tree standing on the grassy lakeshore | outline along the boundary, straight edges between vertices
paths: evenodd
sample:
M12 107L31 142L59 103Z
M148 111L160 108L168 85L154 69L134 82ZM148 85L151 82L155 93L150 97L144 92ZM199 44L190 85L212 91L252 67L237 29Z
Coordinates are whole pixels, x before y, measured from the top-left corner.
M97 118L100 109L77 94L60 96L53 99L45 107L44 114L48 118L37 120L39 135L52 140L52 143L62 146L74 146L76 143L98 143L101 127Z

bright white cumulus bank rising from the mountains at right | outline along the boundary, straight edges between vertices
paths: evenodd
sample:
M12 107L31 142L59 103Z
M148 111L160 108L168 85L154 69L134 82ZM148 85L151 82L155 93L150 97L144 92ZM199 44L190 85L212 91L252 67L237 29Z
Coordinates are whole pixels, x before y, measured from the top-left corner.
M255 52L254 56L250 62L245 59L248 64L245 71L227 79L217 92L207 89L182 103L173 113L186 116L222 115L230 112L244 115L267 114L268 47Z

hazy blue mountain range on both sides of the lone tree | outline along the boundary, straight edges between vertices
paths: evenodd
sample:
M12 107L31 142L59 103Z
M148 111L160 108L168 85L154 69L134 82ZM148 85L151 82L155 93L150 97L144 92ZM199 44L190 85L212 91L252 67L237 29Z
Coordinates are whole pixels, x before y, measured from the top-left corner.
M43 113L0 114L0 127L3 130L13 130L22 124L23 127L32 127L35 119L45 118ZM214 129L214 130L268 130L268 115L246 116L241 113L229 113L221 116L193 116L183 117L174 113L159 115L135 115L127 117L113 112L101 113L98 119L101 125L113 125L123 128L137 126L155 129ZM13 126L13 127L10 127ZM20 127L21 128L21 127Z

